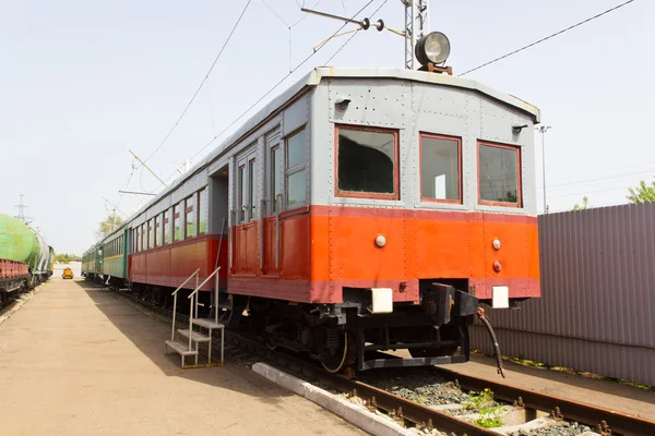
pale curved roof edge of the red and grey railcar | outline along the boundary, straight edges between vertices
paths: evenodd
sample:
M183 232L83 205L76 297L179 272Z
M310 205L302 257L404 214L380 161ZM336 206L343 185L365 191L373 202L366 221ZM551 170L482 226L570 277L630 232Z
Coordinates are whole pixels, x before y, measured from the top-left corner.
M395 78L402 81L420 82L427 84L436 84L441 86L452 86L457 88L471 89L473 92L480 93L489 96L496 100L502 101L509 106L512 106L527 114L532 116L535 123L540 122L539 109L527 101L524 101L510 94L505 94L493 89L487 85L484 85L477 81L471 78L463 78L453 75L430 73L425 71L414 71L406 69L392 69L392 68L334 68L334 66L319 66L311 70L302 78L297 81L294 85L289 86L277 97L261 108L254 116L250 117L240 128L238 128L230 136L228 136L223 143L210 152L201 161L195 164L189 169L183 175L176 179L171 184L166 186L159 194L147 202L141 209L136 210L130 217L126 219L116 231L108 234L100 242L110 239L118 232L129 225L133 219L146 210L150 206L156 204L162 197L168 195L178 185L183 183L187 179L196 173L200 169L204 168L221 155L223 155L228 148L237 144L239 140L250 133L260 123L266 119L274 117L279 109L286 104L295 99L300 94L303 94L309 88L318 86L323 78Z

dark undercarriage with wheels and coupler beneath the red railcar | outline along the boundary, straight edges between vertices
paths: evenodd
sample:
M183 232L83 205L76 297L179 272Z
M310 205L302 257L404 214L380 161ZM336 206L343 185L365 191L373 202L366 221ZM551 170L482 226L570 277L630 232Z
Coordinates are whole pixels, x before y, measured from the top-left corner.
M115 287L111 280L105 284ZM172 308L168 288L127 284L141 300ZM372 314L366 299L353 298L358 291L344 290L345 303L321 305L228 294L224 290L219 292L219 322L230 330L257 336L271 349L303 354L331 373L469 360L468 326L481 311L476 296L451 284L431 283L421 290L419 305L395 303L391 313ZM188 292L180 293L182 296ZM201 316L214 316L213 294L201 293ZM184 298L178 300L177 307L180 314L189 313ZM487 327L497 349L492 330ZM502 374L500 352L497 354Z

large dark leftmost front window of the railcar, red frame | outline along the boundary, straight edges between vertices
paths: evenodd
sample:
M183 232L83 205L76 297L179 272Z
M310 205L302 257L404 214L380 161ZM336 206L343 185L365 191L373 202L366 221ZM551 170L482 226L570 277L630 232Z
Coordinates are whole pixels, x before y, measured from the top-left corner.
M340 125L336 133L336 195L398 199L397 132Z

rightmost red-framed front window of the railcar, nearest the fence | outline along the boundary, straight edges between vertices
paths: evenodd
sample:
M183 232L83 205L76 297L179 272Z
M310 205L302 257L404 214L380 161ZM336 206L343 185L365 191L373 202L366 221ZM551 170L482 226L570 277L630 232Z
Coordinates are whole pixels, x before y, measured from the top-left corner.
M511 145L478 143L480 204L521 207L521 150Z

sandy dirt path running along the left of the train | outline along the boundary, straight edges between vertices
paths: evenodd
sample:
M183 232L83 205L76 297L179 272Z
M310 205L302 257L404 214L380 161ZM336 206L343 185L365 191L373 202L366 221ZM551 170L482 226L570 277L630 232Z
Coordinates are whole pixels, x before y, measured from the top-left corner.
M229 362L180 370L169 334L106 291L52 279L0 326L0 434L364 434Z

